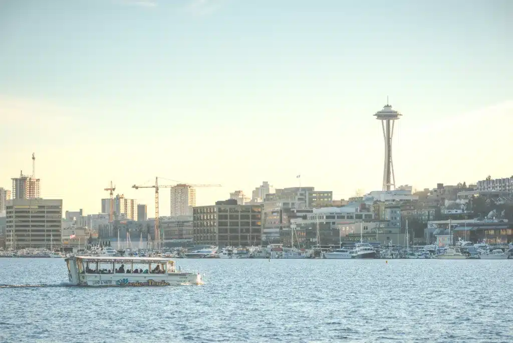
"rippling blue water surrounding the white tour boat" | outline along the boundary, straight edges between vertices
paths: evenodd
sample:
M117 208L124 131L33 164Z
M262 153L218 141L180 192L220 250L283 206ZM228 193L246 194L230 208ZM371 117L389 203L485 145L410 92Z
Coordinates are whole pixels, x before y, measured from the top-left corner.
M206 283L65 287L63 259L0 258L0 342L513 341L511 260L177 261Z

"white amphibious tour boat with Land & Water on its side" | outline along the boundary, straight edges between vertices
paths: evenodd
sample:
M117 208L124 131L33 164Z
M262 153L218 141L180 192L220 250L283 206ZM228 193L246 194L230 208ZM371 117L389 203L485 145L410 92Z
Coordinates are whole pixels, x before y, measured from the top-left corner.
M200 273L182 272L174 261L167 258L76 256L66 258L65 261L69 281L80 286L168 286L203 283Z

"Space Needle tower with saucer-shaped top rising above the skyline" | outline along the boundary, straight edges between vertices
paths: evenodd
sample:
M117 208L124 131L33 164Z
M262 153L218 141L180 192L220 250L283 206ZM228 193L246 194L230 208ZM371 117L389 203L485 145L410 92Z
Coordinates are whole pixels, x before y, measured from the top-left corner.
M385 166L383 168L383 190L390 190L390 186L396 188L396 176L393 174L392 162L392 136L393 124L401 117L401 113L392 109L388 104L388 97L386 105L381 111L376 112L374 115L376 119L381 120L383 127L383 138L385 139Z

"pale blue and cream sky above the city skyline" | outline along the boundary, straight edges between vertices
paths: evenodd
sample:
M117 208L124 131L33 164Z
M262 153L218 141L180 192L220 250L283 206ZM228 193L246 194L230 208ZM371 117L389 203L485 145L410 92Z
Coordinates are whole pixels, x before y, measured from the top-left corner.
M198 205L298 174L347 198L381 189L387 96L398 185L508 177L511 18L508 0L0 0L0 186L34 152L65 211L98 213L112 180L152 217L131 185L155 176L223 185Z

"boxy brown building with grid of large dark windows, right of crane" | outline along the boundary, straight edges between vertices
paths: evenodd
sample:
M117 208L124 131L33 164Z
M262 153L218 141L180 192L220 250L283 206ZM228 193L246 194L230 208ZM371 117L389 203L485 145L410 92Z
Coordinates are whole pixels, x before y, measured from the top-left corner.
M231 203L218 201L216 205L193 208L194 244L219 247L262 244L263 205Z

